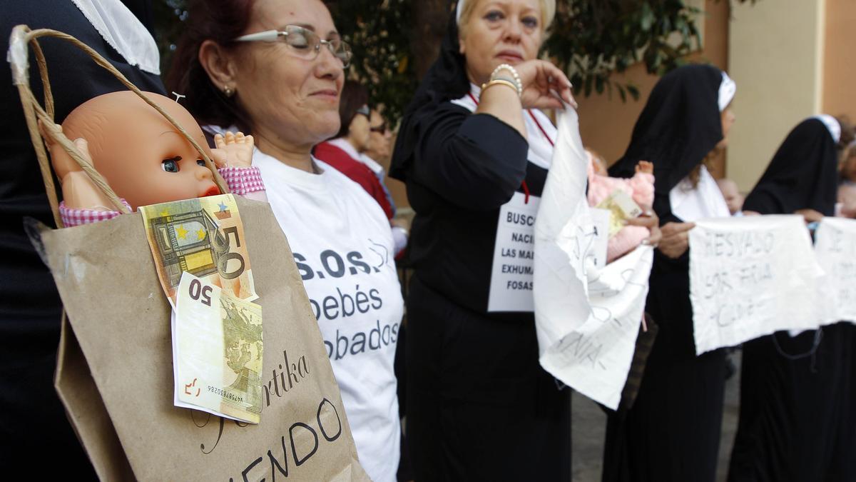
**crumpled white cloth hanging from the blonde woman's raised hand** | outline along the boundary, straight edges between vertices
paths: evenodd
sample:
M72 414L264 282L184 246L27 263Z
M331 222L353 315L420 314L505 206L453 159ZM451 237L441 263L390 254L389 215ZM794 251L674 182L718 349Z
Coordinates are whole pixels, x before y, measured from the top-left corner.
M535 221L534 303L544 370L615 409L645 308L650 246L597 268L598 234L586 202L579 117L559 114L553 163Z

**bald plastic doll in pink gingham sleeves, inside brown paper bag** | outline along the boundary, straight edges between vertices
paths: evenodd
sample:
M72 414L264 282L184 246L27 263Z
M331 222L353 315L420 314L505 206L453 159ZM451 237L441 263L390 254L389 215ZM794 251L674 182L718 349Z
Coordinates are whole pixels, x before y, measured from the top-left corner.
M266 200L259 168L251 166L253 136L215 136L209 149L199 124L175 100L145 95L181 124L217 165L234 194ZM45 126L42 127L45 129ZM211 171L190 142L158 111L131 92L105 93L68 114L62 133L92 160L128 208L220 194ZM109 220L121 214L57 142L45 136L51 164L62 184L60 215L65 226Z

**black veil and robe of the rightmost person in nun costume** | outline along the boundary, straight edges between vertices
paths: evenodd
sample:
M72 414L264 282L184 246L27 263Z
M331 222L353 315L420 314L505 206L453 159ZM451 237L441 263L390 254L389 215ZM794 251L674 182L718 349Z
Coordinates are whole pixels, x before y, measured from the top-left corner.
M817 118L788 135L744 209L832 215L835 140ZM856 480L853 325L791 337L776 332L743 345L740 423L728 480Z

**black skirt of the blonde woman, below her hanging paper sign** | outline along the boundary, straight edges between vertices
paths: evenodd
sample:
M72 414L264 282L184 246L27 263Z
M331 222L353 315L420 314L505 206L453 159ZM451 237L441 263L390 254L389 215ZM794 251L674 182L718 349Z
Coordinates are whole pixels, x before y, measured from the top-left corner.
M416 480L570 480L570 390L538 365L532 316L496 320L413 277L407 443Z

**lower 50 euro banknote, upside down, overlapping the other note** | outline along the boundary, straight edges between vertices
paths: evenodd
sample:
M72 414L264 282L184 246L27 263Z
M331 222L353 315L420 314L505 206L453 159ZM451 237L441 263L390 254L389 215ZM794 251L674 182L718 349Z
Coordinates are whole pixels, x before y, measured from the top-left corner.
M193 274L181 275L172 326L176 407L258 424L262 309Z

